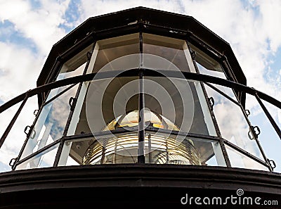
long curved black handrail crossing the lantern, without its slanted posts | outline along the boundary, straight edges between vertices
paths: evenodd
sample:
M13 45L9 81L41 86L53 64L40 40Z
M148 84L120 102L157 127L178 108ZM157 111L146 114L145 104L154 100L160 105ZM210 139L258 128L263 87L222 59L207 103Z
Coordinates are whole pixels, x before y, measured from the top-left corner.
M63 87L63 86L69 85L69 84L77 84L79 82L90 81L90 80L93 80L94 77L96 77L96 75L98 75L98 79L110 78L110 77L112 77L112 75L115 75L115 77L129 77L129 76L133 76L133 75L138 75L138 72L140 72L140 70L145 71L145 76L157 75L160 77L164 77L164 75L165 75L165 76L169 76L169 77L182 78L184 75L185 79L188 79L188 80L196 80L196 81L202 81L202 82L209 82L212 84L218 84L218 85L221 85L224 87L233 88L238 91L244 91L245 93L251 94L253 96L255 94L258 94L259 98L261 98L265 101L268 101L269 103L273 104L277 108L281 109L281 102L277 101L277 99L274 99L272 96L269 96L269 95L263 93L262 91L258 91L254 88L247 87L244 84L240 84L240 83L233 82L230 80L225 80L225 79L222 79L219 77L214 77L211 75L197 74L197 73L193 73L193 72L177 72L177 71L173 71L173 70L150 70L150 69L146 69L146 68L134 68L131 70L126 70L126 71L115 70L115 71L113 71L114 73L111 73L112 71L93 72L93 73L89 73L86 75L77 75L75 77L70 77L70 78L66 78L64 80L58 80L55 82L51 82L49 84L42 85L40 87L31 89L23 94L20 94L19 96L16 96L15 98L11 99L10 101L7 101L6 103L4 103L3 105L0 106L0 113L4 112L8 108L11 108L11 106L14 106L16 103L23 101L25 99L25 96L31 97L31 96L34 96L41 92L49 91L51 89L55 89L58 87ZM126 72L126 73L124 73L124 72ZM161 72L164 72L164 73L162 74Z

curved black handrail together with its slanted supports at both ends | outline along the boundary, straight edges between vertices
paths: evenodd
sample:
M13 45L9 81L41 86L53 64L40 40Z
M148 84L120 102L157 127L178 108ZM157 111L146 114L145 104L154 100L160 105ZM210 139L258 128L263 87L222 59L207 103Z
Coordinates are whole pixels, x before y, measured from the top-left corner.
M31 96L40 94L42 92L49 91L51 89L55 89L58 87L63 87L69 84L77 84L79 82L87 82L95 79L104 79L104 78L112 78L112 77L131 77L131 76L138 76L139 72L145 72L145 76L159 76L159 77L174 77L174 78L183 78L188 80L195 80L200 82L209 82L212 84L218 84L223 87L229 87L238 91L244 91L247 94L251 94L256 97L257 101L261 105L261 108L263 108L264 112L266 113L266 116L270 120L271 125L273 125L275 131L277 132L278 136L281 139L281 131L280 128L277 126L275 120L272 118L268 110L266 109L266 106L263 105L261 102L261 99L268 101L269 103L273 104L277 108L281 109L281 102L277 101L277 99L274 99L272 96L269 96L261 91L258 91L254 88L247 87L244 84L240 84L237 82L233 82L230 80L224 80L219 77L214 77L211 75L204 75L204 74L197 74L193 72L181 72L181 71L174 71L174 70L151 70L146 68L133 68L130 70L112 70L108 72L93 72L86 75L77 75L75 77L66 78L64 80L58 80L55 82L51 82L49 84L42 85L40 87L31 89L23 94L20 94L19 96L16 96L15 98L11 99L10 101L4 103L2 106L0 106L0 113L4 112L8 108L11 108L16 103L19 103L22 101L22 104L20 108L18 109L17 113L15 113L15 116L11 120L10 124L8 125L6 131L4 132L3 136L0 139L0 148L2 144L4 143L8 132L10 132L11 127L13 127L13 124L15 120L18 118L18 115L20 114L20 111L22 110L22 107L25 105L25 102L28 98Z

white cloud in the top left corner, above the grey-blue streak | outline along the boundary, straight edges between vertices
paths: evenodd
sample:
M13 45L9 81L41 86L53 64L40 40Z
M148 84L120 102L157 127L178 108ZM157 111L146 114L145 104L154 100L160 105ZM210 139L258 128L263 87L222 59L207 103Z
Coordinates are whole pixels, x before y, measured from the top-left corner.
M29 1L0 0L0 20L11 21L45 55L55 42L65 36L65 31L58 26L65 21L63 16L69 2L41 0L41 7L33 10Z

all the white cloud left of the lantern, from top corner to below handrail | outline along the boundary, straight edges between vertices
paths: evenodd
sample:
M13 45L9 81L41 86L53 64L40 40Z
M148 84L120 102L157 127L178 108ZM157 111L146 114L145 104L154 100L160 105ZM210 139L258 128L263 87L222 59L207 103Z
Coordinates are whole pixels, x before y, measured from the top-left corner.
M22 48L12 41L0 42L0 99L8 101L28 89L36 87L36 80L44 65L44 60L51 46L65 36L65 30L60 24L65 23L64 15L70 0L64 1L40 1L40 8L34 10L30 1L2 1L0 0L0 21L8 20L14 27L5 27L0 30L1 35L8 36L11 32L20 32L23 39L30 39L36 44L39 53L34 54L32 47ZM0 134L8 125L15 110L0 115ZM29 100L27 108L22 110L12 131L8 135L1 148L0 160L8 164L11 158L15 158L25 140L23 129L26 125L32 125L33 111L37 107L37 99ZM4 169L6 170L6 168Z

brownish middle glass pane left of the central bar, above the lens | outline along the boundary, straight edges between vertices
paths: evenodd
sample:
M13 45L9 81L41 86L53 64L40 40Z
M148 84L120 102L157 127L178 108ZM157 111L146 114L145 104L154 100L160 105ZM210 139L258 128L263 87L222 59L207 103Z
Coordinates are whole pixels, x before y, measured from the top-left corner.
M101 132L119 115L138 110L138 77L93 80L81 91L68 135ZM83 90L83 89L82 89ZM73 121L73 119L72 119Z

